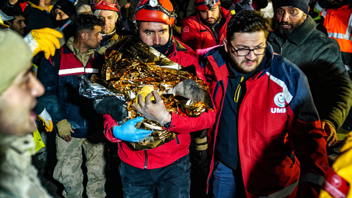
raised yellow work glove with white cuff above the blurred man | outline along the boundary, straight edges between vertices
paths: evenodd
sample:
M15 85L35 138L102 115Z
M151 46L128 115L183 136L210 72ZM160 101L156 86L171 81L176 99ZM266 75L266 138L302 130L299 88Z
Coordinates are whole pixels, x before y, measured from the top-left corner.
M59 31L45 27L30 31L24 37L24 41L30 46L33 56L44 51L45 58L49 59L50 55L54 56L55 49L60 47L58 38L62 38Z

